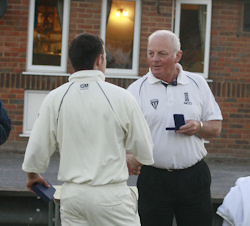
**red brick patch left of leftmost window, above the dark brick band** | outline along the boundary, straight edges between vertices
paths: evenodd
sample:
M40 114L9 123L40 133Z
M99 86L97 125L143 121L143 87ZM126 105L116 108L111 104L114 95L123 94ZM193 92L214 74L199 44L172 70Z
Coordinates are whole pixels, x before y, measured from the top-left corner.
M21 73L26 64L29 0L9 0L0 18L1 73Z

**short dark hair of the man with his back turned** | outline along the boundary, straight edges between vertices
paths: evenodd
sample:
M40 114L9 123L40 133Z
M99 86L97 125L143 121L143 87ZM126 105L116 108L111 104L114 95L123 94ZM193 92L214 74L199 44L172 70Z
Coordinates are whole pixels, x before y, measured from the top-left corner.
M96 58L103 54L103 40L92 34L76 36L69 46L69 59L75 71L93 70Z

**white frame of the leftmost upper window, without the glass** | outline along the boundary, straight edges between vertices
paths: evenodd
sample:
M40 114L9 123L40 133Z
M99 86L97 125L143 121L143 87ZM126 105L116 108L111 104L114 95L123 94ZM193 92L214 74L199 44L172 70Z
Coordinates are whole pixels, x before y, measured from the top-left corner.
M64 0L63 5L63 27L62 27L62 48L61 48L61 64L60 66L33 65L33 34L34 34L34 19L35 19L35 1L29 1L29 21L28 21L28 42L27 42L27 72L55 72L66 73L67 58L68 58L68 35L69 35L69 15L70 15L70 0Z

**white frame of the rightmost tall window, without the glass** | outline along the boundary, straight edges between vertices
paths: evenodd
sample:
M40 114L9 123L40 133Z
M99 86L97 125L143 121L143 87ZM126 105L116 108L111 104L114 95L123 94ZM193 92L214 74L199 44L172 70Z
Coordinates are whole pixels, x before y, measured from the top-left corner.
M204 51L204 70L203 70L203 73L194 72L196 74L202 75L205 79L207 79L208 75L209 75L212 0L200 0L199 2L197 2L197 0L176 0L174 30L175 30L175 34L178 37L180 35L181 4L195 4L195 5L206 5L207 6L205 51Z

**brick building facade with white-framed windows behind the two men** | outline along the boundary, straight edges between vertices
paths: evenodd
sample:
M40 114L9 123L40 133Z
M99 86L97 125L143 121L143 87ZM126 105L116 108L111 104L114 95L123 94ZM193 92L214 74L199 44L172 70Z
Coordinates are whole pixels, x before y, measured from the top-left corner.
M209 156L250 158L250 2L248 0L3 0L0 99L12 120L1 150L25 150L44 96L73 72L68 44L99 35L108 52L106 80L127 88L148 71L148 36L174 31L185 70L207 82L224 117Z

